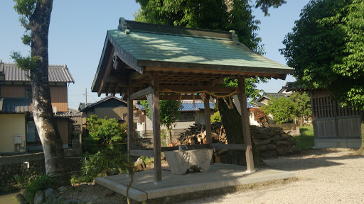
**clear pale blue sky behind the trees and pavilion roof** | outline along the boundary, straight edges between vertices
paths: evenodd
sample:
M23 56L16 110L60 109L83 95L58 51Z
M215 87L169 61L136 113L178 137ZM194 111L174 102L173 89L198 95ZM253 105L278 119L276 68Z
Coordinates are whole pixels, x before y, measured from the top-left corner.
M263 15L257 9L254 15L261 21L258 35L262 38L265 57L286 64L284 56L278 49L284 47L284 35L291 31L294 21L309 0L287 0L287 4L270 9L270 16ZM13 62L11 51L20 51L29 55L30 47L23 45L21 36L24 29L18 22L14 11L14 1L0 1L0 59ZM75 84L68 88L68 106L77 109L80 102L96 102L101 98L91 93L90 88L100 61L102 47L107 30L116 29L119 17L133 20L133 13L138 11L139 4L134 0L55 0L50 19L49 62L50 64L67 64ZM294 81L287 77L286 81ZM267 84L258 84L258 89L266 92L277 92L286 84L280 79L269 80ZM117 95L118 96L118 95ZM103 94L101 97L105 97Z

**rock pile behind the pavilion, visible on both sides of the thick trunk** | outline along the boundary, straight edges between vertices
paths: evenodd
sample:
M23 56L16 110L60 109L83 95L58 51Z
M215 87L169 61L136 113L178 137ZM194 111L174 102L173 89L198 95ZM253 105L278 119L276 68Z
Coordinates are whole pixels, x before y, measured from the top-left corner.
M300 152L300 149L296 147L296 140L294 137L284 133L282 128L260 128L251 125L250 134L263 159ZM172 145L205 144L205 136L205 125L194 124L193 126L190 126L186 132L181 133L181 137L179 137L178 140L173 140ZM228 144L228 138L226 137L222 123L211 124L211 136L213 143Z

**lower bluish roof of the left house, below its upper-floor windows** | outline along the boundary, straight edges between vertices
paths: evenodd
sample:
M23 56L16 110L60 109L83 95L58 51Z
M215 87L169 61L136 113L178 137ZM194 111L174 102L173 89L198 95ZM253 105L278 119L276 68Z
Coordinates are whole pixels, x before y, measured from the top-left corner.
M32 112L29 98L0 98L0 112L27 113Z

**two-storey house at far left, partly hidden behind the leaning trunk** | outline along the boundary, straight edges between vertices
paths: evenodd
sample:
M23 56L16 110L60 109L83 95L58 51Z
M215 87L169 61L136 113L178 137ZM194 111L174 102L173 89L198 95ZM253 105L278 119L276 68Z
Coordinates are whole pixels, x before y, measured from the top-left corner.
M68 83L74 83L66 65L49 65L50 96L63 147L70 142ZM31 81L14 63L0 60L0 154L41 149L33 120Z

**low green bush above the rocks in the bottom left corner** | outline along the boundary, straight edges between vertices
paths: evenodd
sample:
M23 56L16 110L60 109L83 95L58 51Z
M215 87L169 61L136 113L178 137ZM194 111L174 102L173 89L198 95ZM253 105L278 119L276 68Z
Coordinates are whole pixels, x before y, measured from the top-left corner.
M26 188L26 191L24 191L23 196L26 198L26 201L28 203L34 202L34 196L36 196L37 191L39 190L46 190L48 188L54 188L55 187L55 180L48 175L44 176L38 176L36 179L31 181Z

